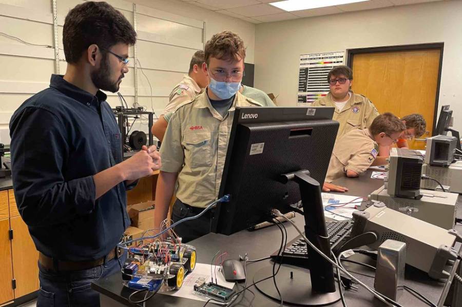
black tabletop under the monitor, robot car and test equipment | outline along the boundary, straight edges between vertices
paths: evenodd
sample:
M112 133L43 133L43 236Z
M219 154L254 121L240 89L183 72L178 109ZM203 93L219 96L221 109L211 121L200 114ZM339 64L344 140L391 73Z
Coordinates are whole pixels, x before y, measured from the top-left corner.
M358 178L341 178L334 181L338 185L347 186L350 190L349 195L355 196L368 196L372 191L378 189L383 185L383 181L380 179L371 179L371 171L364 173ZM462 197L459 196L459 201L462 200ZM458 216L462 216L462 209L459 208ZM297 226L303 227L303 217L295 217L295 222ZM298 233L296 230L286 224L288 240L295 238ZM462 232L462 227L457 226L456 228L459 232ZM272 254L274 251L278 250L281 243L281 233L276 227L268 227L260 229L257 231L249 232L247 230L235 233L230 236L225 236L221 234L210 233L206 236L203 236L199 239L191 241L190 244L194 245L198 252L197 261L200 263L210 263L213 255L218 251L227 251L228 259L239 259L239 255L244 255L247 253L250 259L259 259L267 257ZM356 261L361 261L374 265L374 263L369 260L366 256L362 255L353 255L350 259ZM273 264L270 260L263 260L260 262L249 263L247 264L247 276L249 284L252 283L253 276L255 273L264 268L269 267ZM353 263L344 263L344 267L350 270L356 277L358 277L362 282L368 284L373 288L374 284L374 272L370 269L360 267L357 264ZM442 288L444 286L444 281L432 280L428 277L425 272L419 271L412 267L406 267L406 285L414 288L415 290L426 295L434 303L437 302ZM309 281L307 281L309 282ZM124 288L122 285L121 274L114 274L108 276L104 279L100 279L97 282L92 284L92 288L103 295L108 296L109 298L118 301L122 304L128 304L127 297L132 292ZM242 287L240 287L242 288ZM237 288L236 288L237 289ZM250 288L256 297L253 300L253 306L279 306L279 303L268 299L262 295L255 287ZM249 302L252 300L253 294L246 291L245 295L239 297L233 306L248 306ZM345 299L350 306L371 306L377 305L382 306L383 304L373 297L372 294L366 290L359 288L358 291L346 291ZM425 303L421 302L415 296L408 292L403 292L399 303L403 306L426 306ZM146 302L146 306L203 306L204 302L197 300L184 299L174 296L157 294L155 297ZM337 302L332 306L342 306L341 302Z

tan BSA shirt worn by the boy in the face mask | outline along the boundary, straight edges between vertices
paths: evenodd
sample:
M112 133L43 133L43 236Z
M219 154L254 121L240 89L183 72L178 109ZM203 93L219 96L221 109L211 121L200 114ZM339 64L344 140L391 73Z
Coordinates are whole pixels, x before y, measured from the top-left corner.
M160 149L161 171L178 175L177 198L204 208L217 199L236 107L261 107L237 93L224 118L210 104L206 91L171 116Z

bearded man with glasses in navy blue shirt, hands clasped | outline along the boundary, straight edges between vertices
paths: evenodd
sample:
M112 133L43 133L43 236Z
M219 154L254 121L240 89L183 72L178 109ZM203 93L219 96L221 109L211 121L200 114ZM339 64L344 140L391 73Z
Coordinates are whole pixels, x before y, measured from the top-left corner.
M27 99L10 121L13 188L39 252L37 306L99 306L92 281L120 271L115 248L130 220L126 190L161 166L156 148L123 161L106 95L128 72L136 32L107 3L69 11L67 71Z

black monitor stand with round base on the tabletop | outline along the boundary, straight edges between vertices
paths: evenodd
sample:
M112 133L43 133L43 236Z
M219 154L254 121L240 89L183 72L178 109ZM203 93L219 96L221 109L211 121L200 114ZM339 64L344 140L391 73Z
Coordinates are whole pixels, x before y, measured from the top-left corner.
M331 256L331 245L325 227L322 206L321 185L307 170L282 175L282 182L295 181L300 188L300 196L305 218L305 236L325 255ZM340 300L340 292L334 280L334 269L330 262L307 246L309 260L306 267L281 265L276 282L285 303L296 306L324 306ZM273 275L273 266L259 270L254 282ZM273 278L259 282L256 288L265 296L280 301ZM340 289L341 291L341 289Z

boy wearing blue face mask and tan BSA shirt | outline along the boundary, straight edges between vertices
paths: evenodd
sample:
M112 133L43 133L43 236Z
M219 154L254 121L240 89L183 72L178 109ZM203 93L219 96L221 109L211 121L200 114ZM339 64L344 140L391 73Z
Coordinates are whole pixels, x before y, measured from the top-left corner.
M224 31L205 45L203 71L210 84L204 92L177 108L168 122L161 147L163 167L156 188L155 228L167 217L176 191L172 220L200 213L217 199L236 107L261 103L239 93L245 47L235 33ZM211 212L180 224L175 231L188 242L210 232Z

